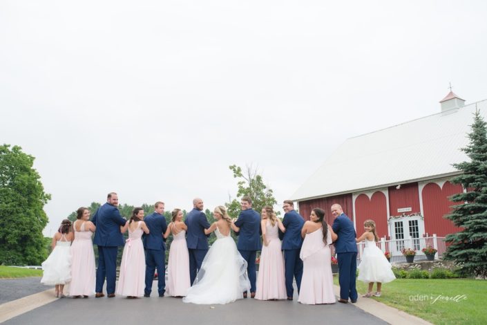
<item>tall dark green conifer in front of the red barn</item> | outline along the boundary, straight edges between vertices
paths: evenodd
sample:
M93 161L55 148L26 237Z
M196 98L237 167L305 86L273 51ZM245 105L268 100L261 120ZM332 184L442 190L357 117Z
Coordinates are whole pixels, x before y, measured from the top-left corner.
M487 277L487 123L479 111L475 112L472 132L468 134L470 144L464 151L470 161L454 164L463 174L453 178L455 184L461 184L466 192L455 194L452 202L460 203L453 207L446 216L457 227L462 228L455 234L448 234L450 243L444 259L455 260L461 271L481 277Z

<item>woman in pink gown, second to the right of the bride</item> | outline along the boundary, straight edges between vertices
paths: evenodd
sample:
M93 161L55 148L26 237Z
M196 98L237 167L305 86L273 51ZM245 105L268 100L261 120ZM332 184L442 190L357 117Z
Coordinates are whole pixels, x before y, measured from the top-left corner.
M277 218L269 205L262 208L262 252L257 277L256 299L278 300L286 299L284 276L284 257L280 250L278 228L284 229L283 223Z

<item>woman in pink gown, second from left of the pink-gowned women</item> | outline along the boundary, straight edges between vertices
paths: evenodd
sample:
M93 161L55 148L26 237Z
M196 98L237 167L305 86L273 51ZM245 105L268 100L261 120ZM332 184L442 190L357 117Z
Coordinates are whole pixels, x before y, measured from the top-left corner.
M144 295L146 277L146 257L142 244L142 232L149 234L149 228L144 219L142 207L136 207L130 221L120 227L122 234L128 229L128 239L120 263L120 277L118 279L117 294L127 298L142 297Z

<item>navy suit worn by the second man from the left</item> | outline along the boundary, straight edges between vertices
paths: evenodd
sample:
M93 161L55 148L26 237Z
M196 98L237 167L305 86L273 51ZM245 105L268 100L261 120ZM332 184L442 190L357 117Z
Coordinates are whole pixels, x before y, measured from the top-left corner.
M146 252L146 288L144 295L151 295L154 271L157 268L157 290L159 296L166 291L166 244L162 234L167 230L166 218L154 212L144 218L149 234L144 234L144 249Z

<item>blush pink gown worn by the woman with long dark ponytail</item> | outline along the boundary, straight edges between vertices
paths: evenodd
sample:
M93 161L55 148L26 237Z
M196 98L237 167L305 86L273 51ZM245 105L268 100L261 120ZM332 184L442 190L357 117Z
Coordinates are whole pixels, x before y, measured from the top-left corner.
M303 260L303 279L298 301L301 304L334 304L332 253L328 243L332 243L332 234L327 234L327 244L323 243L323 229L319 228L306 234L301 247L300 259Z

